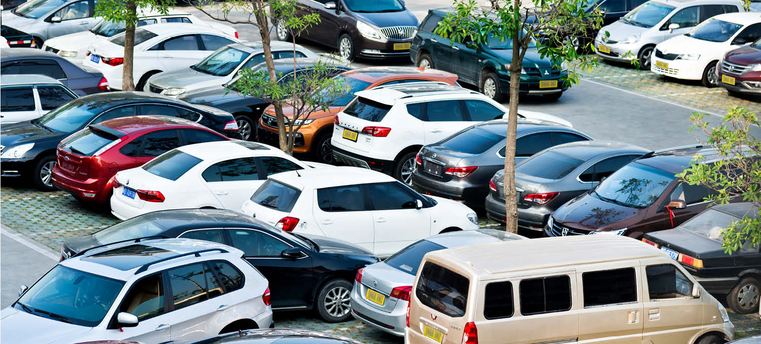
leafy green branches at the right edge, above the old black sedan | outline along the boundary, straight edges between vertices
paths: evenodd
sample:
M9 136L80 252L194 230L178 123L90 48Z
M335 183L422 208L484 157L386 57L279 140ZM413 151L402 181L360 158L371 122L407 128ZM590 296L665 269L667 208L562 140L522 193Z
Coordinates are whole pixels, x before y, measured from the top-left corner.
M723 123L713 127L708 127L705 116L705 113L693 113L689 118L693 122L690 131L700 129L708 135L705 145L716 150L718 161L701 164L706 158L698 155L677 177L689 185L702 185L715 191L707 198L712 205L727 204L733 197L742 197L743 202L761 206L761 141L750 134L751 129L761 128L758 116L734 107L724 116ZM722 231L724 252L731 254L740 250L747 240L753 246L761 244L761 208L756 209L759 213L755 218L747 214Z

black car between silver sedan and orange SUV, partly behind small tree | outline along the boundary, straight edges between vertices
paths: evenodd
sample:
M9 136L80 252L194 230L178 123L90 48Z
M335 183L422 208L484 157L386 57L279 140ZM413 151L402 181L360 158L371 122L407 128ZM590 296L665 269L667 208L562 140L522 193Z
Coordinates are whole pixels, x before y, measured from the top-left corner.
M326 58L277 59L274 61L275 72L281 75L278 82L285 84L297 73L298 75L307 74L318 62L330 64L335 74L351 69L345 63ZM296 66L295 69L294 65ZM266 71L266 65L261 63L253 67L253 70ZM260 116L262 116L264 109L269 106L269 103L260 98L240 94L235 81L237 78L227 84L186 91L177 98L188 103L209 105L232 113L240 127L240 139L254 141L256 139L256 123L259 122Z

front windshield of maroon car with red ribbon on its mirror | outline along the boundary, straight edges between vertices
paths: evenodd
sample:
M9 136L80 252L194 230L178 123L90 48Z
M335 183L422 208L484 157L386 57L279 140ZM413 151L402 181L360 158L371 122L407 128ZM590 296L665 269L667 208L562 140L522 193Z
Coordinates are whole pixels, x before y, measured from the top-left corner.
M647 208L675 179L673 173L632 162L603 180L594 194L606 202Z

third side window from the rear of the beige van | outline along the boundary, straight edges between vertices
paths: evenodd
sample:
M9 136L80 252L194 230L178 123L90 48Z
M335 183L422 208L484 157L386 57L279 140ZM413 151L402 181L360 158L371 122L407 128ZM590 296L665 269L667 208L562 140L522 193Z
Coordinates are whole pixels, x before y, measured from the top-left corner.
M637 301L634 268L584 272L584 307Z

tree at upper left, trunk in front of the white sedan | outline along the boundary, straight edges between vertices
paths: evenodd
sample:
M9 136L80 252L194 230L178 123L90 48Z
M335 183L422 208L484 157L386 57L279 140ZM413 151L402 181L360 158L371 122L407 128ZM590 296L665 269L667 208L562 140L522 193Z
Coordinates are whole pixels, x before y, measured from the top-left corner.
M104 21L123 22L125 24L122 68L123 91L135 91L135 81L132 78L132 56L135 53L135 25L140 19L138 8L141 10L150 8L161 14L167 14L172 6L174 6L174 0L100 0L95 2L95 14L97 16L103 17Z

